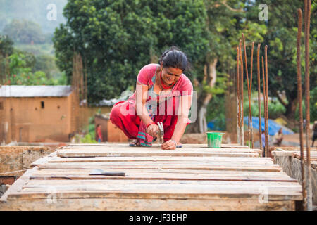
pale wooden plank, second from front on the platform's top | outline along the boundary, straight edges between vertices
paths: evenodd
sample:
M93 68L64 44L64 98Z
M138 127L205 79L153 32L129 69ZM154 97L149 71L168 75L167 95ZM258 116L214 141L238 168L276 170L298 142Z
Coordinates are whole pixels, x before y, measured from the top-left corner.
M247 182L247 181L160 181L160 180L30 180L22 191L46 192L48 188L60 191L136 191L140 193L255 193L259 188L267 188L268 193L288 189L288 193L301 191L302 186L293 182ZM26 190L27 189L27 190ZM284 192L285 193L285 192ZM287 195L287 193L285 193Z

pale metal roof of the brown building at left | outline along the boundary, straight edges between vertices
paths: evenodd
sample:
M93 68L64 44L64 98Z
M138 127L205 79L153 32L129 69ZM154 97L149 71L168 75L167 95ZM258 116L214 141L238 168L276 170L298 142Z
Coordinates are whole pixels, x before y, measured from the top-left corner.
M68 96L71 92L71 86L64 85L2 85L0 87L0 97L2 98L64 97Z

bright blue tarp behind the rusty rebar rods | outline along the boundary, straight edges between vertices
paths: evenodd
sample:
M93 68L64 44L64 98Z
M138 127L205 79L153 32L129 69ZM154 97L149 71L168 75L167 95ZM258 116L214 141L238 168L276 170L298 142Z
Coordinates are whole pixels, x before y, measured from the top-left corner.
M244 124L248 126L248 117L244 117ZM254 129L259 129L259 117L252 117L252 126ZM283 134L294 134L291 129L274 122L274 120L268 119L268 135L273 136L282 128ZM264 130L264 118L261 117L261 129Z

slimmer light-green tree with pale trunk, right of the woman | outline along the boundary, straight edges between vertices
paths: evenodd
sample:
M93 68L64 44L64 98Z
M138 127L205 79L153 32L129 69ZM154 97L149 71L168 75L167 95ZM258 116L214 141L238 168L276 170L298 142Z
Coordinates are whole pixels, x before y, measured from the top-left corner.
M250 40L263 41L262 34L266 32L266 27L257 23L257 20L246 20L247 2L204 1L208 15L206 30L209 48L204 55L204 72L199 73L194 80L197 86L199 126L194 124L189 131L206 132L206 112L212 110L207 108L211 98L215 94L223 94L227 89L226 85L232 85L232 82L228 82L228 74L235 68L236 47L242 38L242 32L247 37L248 55Z

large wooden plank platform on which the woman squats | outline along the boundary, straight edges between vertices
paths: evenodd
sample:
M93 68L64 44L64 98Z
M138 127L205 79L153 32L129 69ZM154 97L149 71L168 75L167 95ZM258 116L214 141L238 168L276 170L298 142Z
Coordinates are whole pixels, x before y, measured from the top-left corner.
M260 156L237 145L70 145L33 162L0 210L295 210L302 186Z

